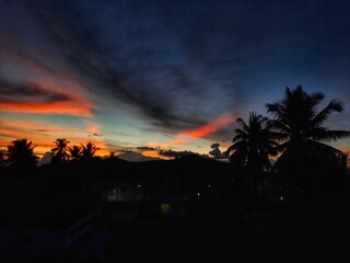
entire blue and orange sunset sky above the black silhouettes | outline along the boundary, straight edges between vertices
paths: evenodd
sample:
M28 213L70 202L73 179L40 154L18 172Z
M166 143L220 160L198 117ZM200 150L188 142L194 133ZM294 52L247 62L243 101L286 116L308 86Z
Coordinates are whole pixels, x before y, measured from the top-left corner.
M350 130L349 13L347 0L1 0L0 147L220 158L237 117L269 116L299 84L320 106L340 99L325 125Z

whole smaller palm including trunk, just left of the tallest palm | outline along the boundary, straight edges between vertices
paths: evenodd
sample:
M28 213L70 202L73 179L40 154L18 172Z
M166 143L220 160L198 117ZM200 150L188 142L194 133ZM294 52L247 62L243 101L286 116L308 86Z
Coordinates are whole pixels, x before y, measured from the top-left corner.
M261 178L264 170L269 171L270 156L277 153L276 133L270 130L269 121L255 112L249 113L248 123L243 118L236 121L241 128L235 129L233 145L228 148L229 160L235 165L241 174L241 191L244 194L244 207L247 213L250 209L259 211L259 198L257 194L257 180ZM252 206L252 207L250 207Z

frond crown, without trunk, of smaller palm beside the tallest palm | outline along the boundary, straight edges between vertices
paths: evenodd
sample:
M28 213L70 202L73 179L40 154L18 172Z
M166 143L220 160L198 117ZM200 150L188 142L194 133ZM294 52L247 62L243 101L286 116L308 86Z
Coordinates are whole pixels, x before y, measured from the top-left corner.
M229 160L249 172L269 170L271 163L269 156L276 155L275 147L277 134L270 130L270 124L262 115L249 113L248 124L243 118L236 121L241 128L235 129L233 145L228 148Z

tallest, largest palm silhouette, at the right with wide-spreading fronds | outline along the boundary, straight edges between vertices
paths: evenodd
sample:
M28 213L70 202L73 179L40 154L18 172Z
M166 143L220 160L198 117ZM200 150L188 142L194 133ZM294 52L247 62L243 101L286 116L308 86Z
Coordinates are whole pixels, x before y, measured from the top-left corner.
M283 140L278 147L281 156L276 162L276 169L284 172L288 182L292 184L292 191L308 187L315 183L315 176L329 174L335 164L339 163L337 160L342 152L322 141L350 137L350 132L330 130L322 126L331 113L340 113L343 108L339 100L331 100L317 112L316 106L324 99L322 92L307 94L299 85L294 90L287 88L281 102L266 105L275 117L271 126Z

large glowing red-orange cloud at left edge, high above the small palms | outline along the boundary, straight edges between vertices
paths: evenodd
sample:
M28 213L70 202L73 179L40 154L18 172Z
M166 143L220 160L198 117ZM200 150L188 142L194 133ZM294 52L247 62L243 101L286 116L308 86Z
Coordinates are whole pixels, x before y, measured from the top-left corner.
M1 58L19 68L20 71L31 76L21 81L22 85L34 84L35 89L42 90L44 93L63 95L67 100L36 103L31 102L27 98L22 99L19 96L15 102L2 101L0 103L0 111L92 116L92 108L97 107L89 100L86 94L88 89L79 77L69 71L69 69L60 67L59 64L52 65L52 68L49 68L25 54L21 54L20 56L15 53L2 53Z

